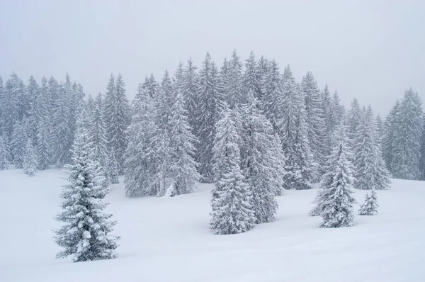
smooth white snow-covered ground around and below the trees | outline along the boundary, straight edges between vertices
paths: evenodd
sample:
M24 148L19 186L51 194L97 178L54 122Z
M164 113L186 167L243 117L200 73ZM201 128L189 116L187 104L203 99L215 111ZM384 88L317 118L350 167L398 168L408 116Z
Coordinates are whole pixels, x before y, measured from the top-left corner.
M115 184L106 211L118 220L118 259L72 263L55 259L52 239L60 176L0 171L1 282L425 281L425 182L393 179L378 191L379 215L339 229L319 228L321 218L307 215L316 189L285 191L276 222L221 236L208 228L211 184L131 199ZM359 203L364 193L356 191Z

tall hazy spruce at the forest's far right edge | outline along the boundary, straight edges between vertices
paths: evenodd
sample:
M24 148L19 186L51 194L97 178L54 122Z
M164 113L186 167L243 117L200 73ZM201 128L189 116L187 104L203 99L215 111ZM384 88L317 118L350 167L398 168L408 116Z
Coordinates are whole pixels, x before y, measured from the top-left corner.
M419 94L408 89L399 106L393 135L392 176L397 179L419 179L421 135L424 123Z

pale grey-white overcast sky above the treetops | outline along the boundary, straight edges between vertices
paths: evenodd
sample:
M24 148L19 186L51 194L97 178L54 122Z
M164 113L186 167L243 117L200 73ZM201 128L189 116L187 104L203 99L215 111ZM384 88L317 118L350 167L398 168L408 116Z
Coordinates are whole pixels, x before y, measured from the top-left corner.
M174 72L188 57L218 66L275 58L298 81L312 71L348 105L353 97L386 114L404 89L425 98L424 0L1 0L0 75L28 80L69 72L86 94L123 73L128 96L153 72Z

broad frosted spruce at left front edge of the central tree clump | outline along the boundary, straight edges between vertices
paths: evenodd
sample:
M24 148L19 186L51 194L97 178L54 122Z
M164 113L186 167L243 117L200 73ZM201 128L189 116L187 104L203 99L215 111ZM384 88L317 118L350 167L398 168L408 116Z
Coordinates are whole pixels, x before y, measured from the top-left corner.
M153 136L157 131L155 124L153 99L149 89L139 86L132 101L132 118L127 130L128 146L125 150L125 195L154 196L157 194L155 184L155 162Z

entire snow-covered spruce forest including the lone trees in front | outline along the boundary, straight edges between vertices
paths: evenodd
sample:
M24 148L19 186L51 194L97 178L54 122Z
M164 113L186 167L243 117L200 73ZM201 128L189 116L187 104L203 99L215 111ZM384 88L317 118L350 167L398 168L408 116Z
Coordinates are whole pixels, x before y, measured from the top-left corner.
M213 183L210 229L230 235L273 222L276 197L290 189L317 185L305 213L334 228L377 214L376 191L390 178L425 180L424 111L409 86L381 117L356 98L345 108L311 72L296 81L289 65L253 52L245 60L236 50L220 64L209 53L199 65L181 62L138 89L126 89L120 73L105 82L104 93L91 96L68 74L0 77L0 170L67 172L58 257L117 256L117 222L103 209L119 181L128 198ZM132 101L128 91L137 91ZM367 190L358 211L354 189Z

